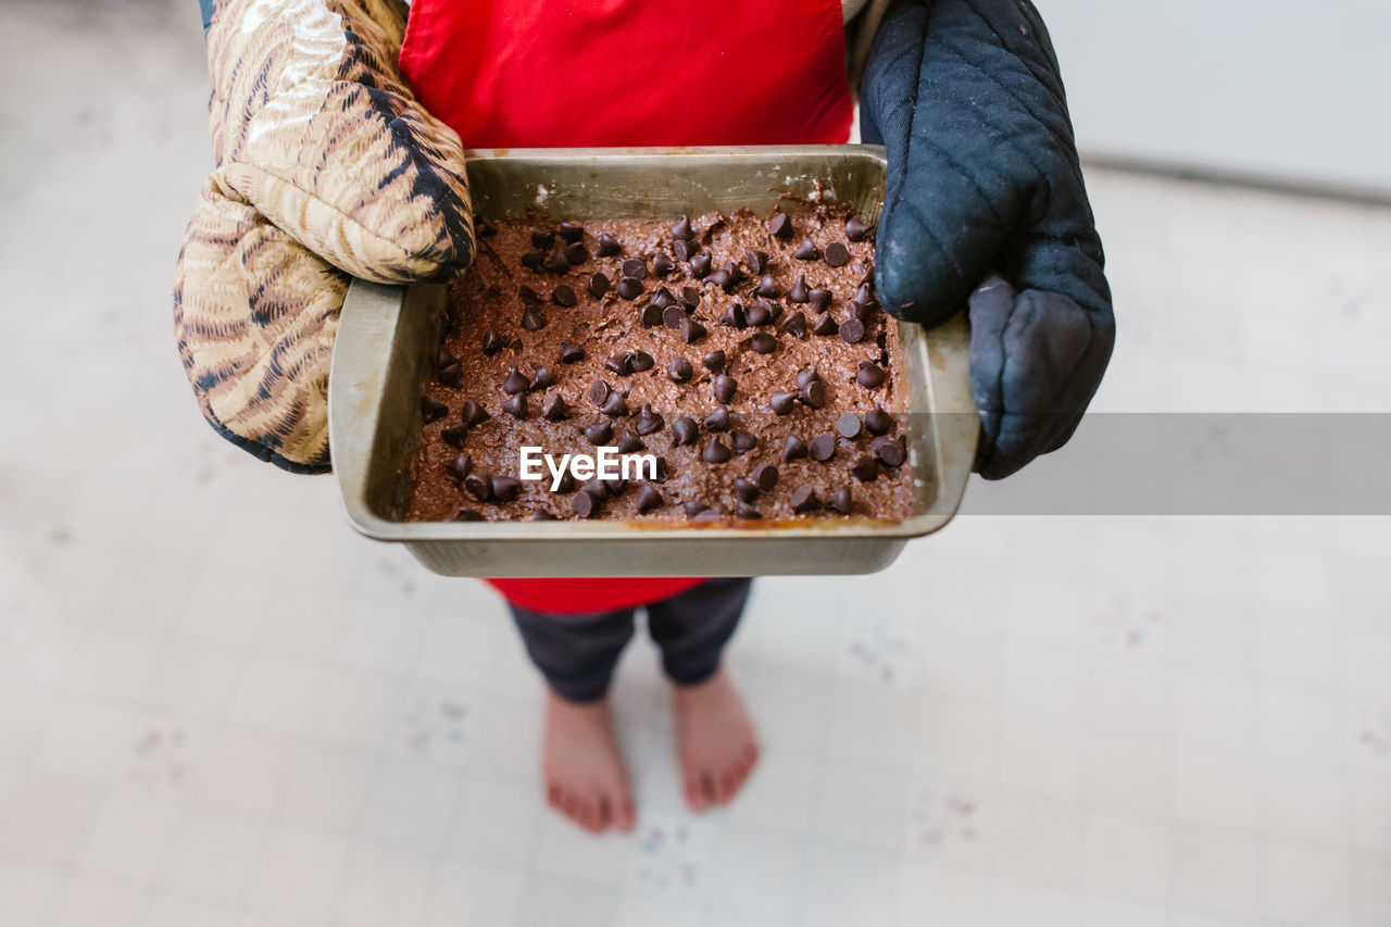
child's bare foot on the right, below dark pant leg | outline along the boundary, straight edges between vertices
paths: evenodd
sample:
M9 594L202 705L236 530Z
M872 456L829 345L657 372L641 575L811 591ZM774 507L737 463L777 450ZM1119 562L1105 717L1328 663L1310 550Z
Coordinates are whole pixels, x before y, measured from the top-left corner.
M676 742L686 805L704 811L729 803L758 761L758 735L723 670L676 686Z

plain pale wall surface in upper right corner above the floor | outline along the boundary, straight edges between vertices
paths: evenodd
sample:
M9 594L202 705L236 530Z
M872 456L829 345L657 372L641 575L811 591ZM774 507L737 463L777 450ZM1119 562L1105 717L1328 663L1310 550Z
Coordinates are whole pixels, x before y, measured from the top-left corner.
M1391 195L1384 0L1035 0L1085 153Z

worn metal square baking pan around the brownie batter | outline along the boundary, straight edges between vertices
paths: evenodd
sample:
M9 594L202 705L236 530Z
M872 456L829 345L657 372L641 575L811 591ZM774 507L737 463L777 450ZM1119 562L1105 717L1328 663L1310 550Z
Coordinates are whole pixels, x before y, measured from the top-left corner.
M652 219L797 209L818 184L878 219L885 153L874 145L472 152L474 207L491 219ZM750 576L867 573L956 514L975 458L978 419L964 316L924 331L900 324L917 504L904 519L762 522L408 522L419 402L441 338L442 285L355 280L328 386L330 447L353 528L405 544L449 576Z

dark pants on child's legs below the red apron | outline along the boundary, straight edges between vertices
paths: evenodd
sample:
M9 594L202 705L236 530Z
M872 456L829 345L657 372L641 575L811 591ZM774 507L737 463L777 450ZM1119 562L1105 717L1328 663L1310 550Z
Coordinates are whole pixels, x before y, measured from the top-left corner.
M734 625L744 612L750 579L708 579L694 589L654 601L647 629L662 650L662 668L677 685L715 675ZM531 663L558 696L569 702L604 697L619 654L633 636L636 608L597 615L542 615L512 605Z

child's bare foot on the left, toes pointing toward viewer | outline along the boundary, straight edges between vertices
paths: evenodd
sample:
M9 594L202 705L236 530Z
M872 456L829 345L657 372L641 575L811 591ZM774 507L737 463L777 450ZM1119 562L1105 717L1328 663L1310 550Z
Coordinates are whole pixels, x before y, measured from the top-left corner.
M541 775L551 807L591 834L633 830L633 791L606 700L576 704L547 692Z

